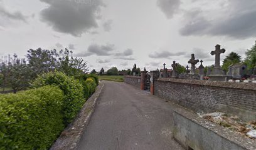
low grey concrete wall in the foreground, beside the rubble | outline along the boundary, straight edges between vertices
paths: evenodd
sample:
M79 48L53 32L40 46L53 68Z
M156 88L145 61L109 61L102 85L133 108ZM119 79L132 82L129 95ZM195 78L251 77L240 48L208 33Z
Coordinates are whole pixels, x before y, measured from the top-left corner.
M174 139L186 149L256 149L253 139L225 129L218 124L213 124L185 109L174 109L173 120Z

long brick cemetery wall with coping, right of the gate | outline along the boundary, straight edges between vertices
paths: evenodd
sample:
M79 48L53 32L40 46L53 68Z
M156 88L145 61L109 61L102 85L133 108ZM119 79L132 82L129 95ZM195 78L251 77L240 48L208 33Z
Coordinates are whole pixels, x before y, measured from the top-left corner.
M252 83L158 78L154 94L197 113L221 111L245 121L256 119L256 86Z

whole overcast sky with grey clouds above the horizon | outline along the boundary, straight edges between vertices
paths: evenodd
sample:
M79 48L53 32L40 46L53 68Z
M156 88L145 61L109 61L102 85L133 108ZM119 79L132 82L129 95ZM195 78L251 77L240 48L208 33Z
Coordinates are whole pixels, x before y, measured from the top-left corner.
M151 70L213 64L216 44L244 58L255 40L255 0L0 0L0 56L67 47L97 71Z

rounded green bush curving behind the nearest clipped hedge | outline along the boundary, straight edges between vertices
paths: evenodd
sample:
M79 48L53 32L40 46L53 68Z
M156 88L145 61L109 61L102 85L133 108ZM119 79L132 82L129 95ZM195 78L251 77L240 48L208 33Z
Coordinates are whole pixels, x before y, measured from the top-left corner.
M65 95L63 101L64 123L66 125L71 123L85 103L82 84L80 84L78 80L68 77L64 73L55 72L43 74L33 83L33 87L36 88L45 85L55 85L63 91Z

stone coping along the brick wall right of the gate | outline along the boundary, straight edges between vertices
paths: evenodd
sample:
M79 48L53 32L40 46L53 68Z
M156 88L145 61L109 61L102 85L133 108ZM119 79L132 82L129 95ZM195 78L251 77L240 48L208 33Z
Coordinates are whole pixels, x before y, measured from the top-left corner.
M256 91L255 83L229 83L229 82L223 82L223 81L202 81L202 80L175 79L175 78L157 78L156 80L172 82L172 83L196 84L201 86L215 86L219 88L247 89L247 90Z

